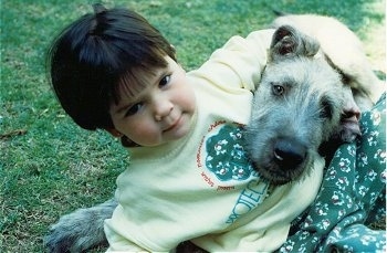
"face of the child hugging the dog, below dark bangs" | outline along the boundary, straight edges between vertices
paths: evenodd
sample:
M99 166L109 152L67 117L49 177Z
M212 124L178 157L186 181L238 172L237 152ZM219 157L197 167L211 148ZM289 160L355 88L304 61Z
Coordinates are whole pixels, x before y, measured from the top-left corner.
M167 67L145 76L147 86L128 95L119 87L121 101L112 103L109 114L119 133L140 146L157 146L184 137L192 125L195 93L186 72L166 56Z

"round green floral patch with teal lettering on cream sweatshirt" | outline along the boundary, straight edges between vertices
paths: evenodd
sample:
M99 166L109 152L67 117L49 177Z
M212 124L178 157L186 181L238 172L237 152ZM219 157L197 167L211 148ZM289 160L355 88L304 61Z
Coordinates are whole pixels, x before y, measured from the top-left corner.
M269 194L270 185L249 162L243 129L238 124L216 122L208 128L198 148L197 166L210 187L234 191L236 202L224 221L228 224L254 210Z

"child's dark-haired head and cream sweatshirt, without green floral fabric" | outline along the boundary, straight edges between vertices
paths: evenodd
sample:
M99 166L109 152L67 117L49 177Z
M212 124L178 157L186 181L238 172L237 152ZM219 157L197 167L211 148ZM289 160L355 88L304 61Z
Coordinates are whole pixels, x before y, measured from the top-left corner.
M272 33L234 36L187 74L174 48L129 10L97 4L56 39L50 71L63 108L130 152L105 222L111 251L170 251L187 240L211 252L274 251L285 242L317 194L324 161L282 187L248 162L241 127Z

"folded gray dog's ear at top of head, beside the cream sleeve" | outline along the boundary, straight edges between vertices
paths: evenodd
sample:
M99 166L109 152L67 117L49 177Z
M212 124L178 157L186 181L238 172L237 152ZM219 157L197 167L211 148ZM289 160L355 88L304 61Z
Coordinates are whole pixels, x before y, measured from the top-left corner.
M291 25L282 25L273 34L269 61L294 56L313 57L318 49L320 44L313 38L301 33Z

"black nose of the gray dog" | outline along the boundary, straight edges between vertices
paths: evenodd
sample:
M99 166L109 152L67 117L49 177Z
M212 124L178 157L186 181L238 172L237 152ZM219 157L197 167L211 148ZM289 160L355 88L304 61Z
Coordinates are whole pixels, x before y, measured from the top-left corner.
M292 138L278 139L274 145L274 160L283 169L295 169L306 157L306 147Z

